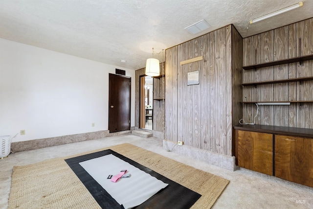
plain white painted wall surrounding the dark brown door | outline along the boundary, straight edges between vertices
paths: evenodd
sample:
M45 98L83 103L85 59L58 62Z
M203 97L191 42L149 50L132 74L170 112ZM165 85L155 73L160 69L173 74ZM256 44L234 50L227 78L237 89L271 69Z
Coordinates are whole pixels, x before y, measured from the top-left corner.
M0 39L0 136L13 141L108 130L109 73L135 71ZM91 123L95 123L92 127Z

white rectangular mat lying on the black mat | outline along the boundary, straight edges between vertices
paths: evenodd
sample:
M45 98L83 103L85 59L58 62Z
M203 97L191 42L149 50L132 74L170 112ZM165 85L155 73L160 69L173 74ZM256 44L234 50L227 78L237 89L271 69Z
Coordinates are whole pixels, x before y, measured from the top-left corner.
M142 204L168 185L112 154L79 164L125 209ZM107 179L121 170L127 170L131 177L121 178L116 183Z

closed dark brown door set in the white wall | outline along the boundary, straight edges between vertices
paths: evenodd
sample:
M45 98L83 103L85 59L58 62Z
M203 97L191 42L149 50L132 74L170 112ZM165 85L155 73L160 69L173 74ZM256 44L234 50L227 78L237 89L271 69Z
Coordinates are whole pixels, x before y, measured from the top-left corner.
M131 129L131 78L109 74L109 131Z

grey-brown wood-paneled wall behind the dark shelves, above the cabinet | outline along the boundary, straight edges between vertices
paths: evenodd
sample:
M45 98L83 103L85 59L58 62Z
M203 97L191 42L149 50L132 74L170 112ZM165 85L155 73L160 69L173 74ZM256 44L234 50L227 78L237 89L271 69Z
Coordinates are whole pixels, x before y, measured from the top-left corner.
M244 39L244 66L313 54L313 19ZM313 76L313 61L243 70L243 83ZM243 101L313 100L313 81L243 87ZM253 122L255 104L243 105L243 118ZM313 128L313 103L259 106L256 124Z

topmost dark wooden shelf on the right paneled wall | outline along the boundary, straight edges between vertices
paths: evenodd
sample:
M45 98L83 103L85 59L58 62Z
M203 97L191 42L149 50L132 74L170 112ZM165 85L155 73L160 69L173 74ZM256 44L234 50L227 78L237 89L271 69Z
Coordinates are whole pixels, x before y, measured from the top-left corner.
M283 59L283 60L277 60L277 61L272 61L272 62L267 62L267 63L248 65L248 66L244 66L243 69L244 70L253 70L253 69L256 70L258 68L266 68L266 67L271 67L271 66L276 66L276 65L284 65L284 64L294 63L294 62L303 62L307 60L313 60L313 54L300 56L300 57L294 57L294 58L288 58L288 59Z

